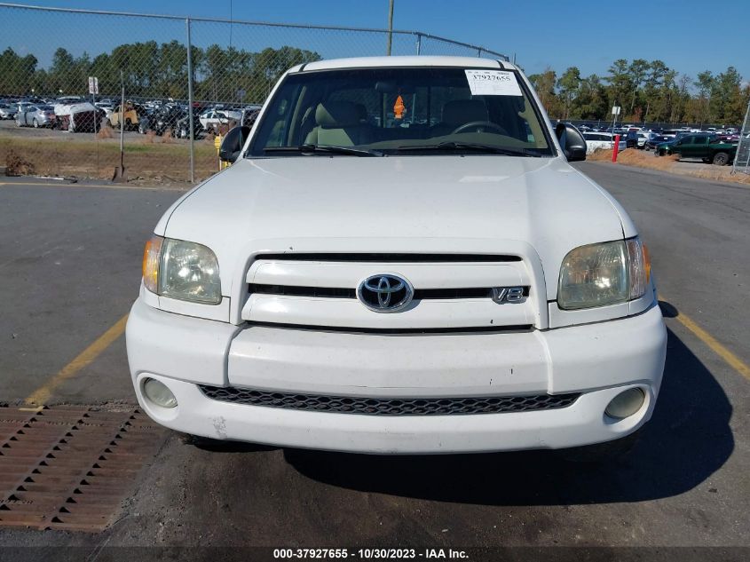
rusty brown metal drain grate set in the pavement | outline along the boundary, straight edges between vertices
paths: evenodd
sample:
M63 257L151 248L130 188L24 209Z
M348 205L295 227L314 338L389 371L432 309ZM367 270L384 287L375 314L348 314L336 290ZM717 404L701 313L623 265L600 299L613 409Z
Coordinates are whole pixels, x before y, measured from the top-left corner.
M0 526L104 529L163 436L138 410L0 408Z

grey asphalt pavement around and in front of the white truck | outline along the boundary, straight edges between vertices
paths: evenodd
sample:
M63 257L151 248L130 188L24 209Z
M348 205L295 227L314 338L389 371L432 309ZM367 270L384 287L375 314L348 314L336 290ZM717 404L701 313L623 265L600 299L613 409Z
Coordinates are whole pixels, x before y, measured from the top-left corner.
M750 363L750 189L576 166L635 220L667 316L659 404L627 463L581 465L546 451L374 457L211 448L169 434L103 534L0 530L0 545L77 544L80 559L104 544L737 546L749 554L742 366ZM128 312L143 242L183 193L47 183L0 178L0 401L12 405ZM122 339L50 387L49 401L132 402Z

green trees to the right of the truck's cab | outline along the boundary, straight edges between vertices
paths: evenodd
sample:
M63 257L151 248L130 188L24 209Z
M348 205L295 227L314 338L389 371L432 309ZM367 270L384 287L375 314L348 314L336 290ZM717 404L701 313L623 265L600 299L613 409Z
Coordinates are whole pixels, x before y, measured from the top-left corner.
M750 84L737 68L695 78L680 74L661 60L617 59L608 74L581 76L578 67L562 75L550 67L529 80L551 118L619 122L740 124L750 99Z

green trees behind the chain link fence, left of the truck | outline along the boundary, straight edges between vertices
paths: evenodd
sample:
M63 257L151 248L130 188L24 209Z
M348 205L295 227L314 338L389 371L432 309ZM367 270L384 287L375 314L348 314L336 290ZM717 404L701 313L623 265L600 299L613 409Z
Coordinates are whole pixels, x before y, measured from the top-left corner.
M251 52L217 44L190 51L193 98L261 103L289 67L320 60L317 52L296 47ZM10 47L0 53L0 96L87 95L88 77L99 78L99 92L153 99L187 99L187 47L178 41L122 44L93 59L74 57L59 47L48 68L39 67L32 54L20 56Z

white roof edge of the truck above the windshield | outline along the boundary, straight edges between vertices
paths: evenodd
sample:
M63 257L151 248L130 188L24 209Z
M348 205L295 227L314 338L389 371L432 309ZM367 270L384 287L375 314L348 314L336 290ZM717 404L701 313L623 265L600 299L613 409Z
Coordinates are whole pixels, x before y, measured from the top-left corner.
M335 68L360 67L469 67L515 70L516 67L505 60L483 59L481 57L356 57L351 59L316 60L297 65L289 72L304 70L332 70Z

